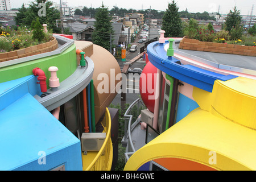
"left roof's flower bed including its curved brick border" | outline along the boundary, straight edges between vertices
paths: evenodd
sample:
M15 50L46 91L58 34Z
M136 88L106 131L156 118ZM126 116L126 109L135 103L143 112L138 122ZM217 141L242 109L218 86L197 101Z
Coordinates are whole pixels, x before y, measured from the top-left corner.
M36 31L40 31L37 36ZM31 31L26 26L17 30L0 28L0 62L53 51L57 47L57 40L51 33L44 32L40 24L38 30Z

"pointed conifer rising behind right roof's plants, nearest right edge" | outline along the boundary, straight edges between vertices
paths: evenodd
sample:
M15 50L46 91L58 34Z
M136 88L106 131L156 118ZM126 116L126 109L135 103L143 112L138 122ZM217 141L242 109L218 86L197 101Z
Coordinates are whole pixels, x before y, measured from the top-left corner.
M229 32L232 28L240 27L242 20L242 16L240 16L240 10L237 10L237 7L235 6L234 11L230 10L225 20L225 30Z

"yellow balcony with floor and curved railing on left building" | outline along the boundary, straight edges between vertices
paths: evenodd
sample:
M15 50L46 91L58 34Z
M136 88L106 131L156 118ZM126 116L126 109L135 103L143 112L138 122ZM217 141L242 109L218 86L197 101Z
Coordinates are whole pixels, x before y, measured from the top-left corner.
M82 154L83 171L110 171L113 159L113 146L111 140L111 117L108 108L101 125L104 127L106 139L100 151L88 151L87 155Z

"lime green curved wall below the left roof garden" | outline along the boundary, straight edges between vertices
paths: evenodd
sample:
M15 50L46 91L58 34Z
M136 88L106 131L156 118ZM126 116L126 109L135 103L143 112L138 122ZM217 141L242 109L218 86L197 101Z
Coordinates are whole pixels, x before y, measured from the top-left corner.
M25 77L28 75L33 75L32 70L38 67L42 69L46 74L47 87L49 88L48 85L51 72L48 71L48 68L52 66L59 68L59 71L57 71L57 77L60 79L60 82L72 75L72 73L75 72L77 68L75 44L73 44L59 55L44 57L42 59L0 68L0 83L15 80L17 78Z

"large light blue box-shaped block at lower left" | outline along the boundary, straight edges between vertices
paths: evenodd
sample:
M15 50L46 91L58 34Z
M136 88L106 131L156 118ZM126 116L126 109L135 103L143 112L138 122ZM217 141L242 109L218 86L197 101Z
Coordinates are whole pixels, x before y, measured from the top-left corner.
M0 170L82 170L80 140L32 96L35 83L28 76L0 84Z

